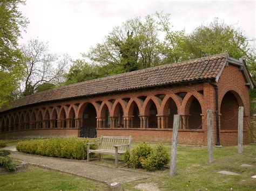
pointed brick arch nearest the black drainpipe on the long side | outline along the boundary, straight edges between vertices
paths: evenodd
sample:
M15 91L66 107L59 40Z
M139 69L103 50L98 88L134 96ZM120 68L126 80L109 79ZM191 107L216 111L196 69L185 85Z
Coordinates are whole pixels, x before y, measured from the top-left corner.
M181 103L181 109L180 109L180 114L184 115L187 113L187 108L190 107L191 104L191 98L196 98L198 100L198 102L200 103L201 106L201 110L203 112L203 108L204 108L204 96L202 94L200 94L199 92L197 92L196 90L190 91L186 94L186 96L183 99L183 102Z

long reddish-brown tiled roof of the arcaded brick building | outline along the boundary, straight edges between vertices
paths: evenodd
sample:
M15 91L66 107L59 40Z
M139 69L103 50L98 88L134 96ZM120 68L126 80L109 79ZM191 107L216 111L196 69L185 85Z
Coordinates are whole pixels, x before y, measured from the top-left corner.
M41 102L211 79L219 74L227 57L227 53L218 54L74 83L22 97L9 105L4 105L0 112Z

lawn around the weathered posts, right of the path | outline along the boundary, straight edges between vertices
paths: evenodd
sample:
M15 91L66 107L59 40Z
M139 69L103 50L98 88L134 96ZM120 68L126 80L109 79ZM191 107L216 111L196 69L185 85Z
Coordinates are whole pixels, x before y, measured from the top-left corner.
M166 146L170 148L169 146ZM256 145L244 146L244 153L237 154L237 147L214 148L214 162L207 164L207 148L179 146L176 176L169 176L169 169L152 173L153 178L123 185L131 189L138 183L156 183L161 190L255 190ZM252 164L254 167L241 167ZM223 175L226 170L240 175Z

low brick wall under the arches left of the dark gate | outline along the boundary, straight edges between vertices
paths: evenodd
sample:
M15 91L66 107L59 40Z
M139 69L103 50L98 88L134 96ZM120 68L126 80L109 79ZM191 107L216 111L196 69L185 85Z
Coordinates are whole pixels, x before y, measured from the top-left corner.
M0 139L28 137L77 137L78 129L29 129L0 133Z

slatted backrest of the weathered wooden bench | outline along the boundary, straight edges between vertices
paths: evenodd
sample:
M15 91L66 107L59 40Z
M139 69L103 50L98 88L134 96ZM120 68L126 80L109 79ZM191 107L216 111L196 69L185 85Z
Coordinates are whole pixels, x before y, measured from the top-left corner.
M114 145L128 144L127 146L118 147L118 150L119 151L127 151L127 150L130 151L131 141L132 141L132 136L129 136L129 137L101 136L99 149L114 150Z

